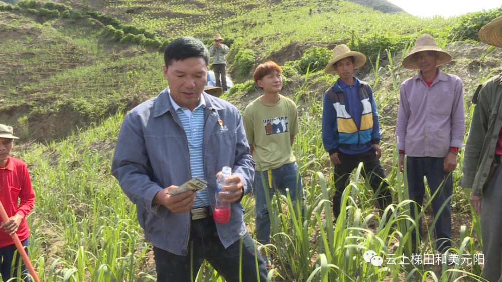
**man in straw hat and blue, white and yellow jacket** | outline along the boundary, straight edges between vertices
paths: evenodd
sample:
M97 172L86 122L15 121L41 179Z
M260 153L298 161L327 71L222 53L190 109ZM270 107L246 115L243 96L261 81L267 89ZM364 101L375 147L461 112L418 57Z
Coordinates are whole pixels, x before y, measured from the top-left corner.
M322 142L334 165L335 195L333 215L338 218L342 193L348 185L349 174L359 163L371 188L378 194L378 208L383 211L392 203L389 184L383 181L384 169L380 163L380 122L371 86L353 76L354 69L366 63L366 56L350 51L344 45L333 49L333 59L325 73L340 78L324 93L322 114Z

